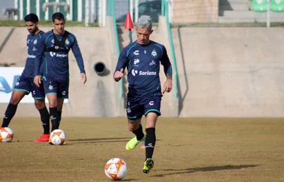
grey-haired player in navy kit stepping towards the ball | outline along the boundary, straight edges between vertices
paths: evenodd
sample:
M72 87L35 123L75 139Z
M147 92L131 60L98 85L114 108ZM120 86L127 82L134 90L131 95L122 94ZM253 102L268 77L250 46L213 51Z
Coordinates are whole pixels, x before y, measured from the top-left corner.
M172 65L165 46L150 40L152 21L149 16L141 16L136 26L136 41L121 50L114 71L114 80L119 81L127 68L128 94L127 117L128 130L135 134L126 144L126 150L136 148L145 139L145 161L143 172L148 173L154 167L152 155L156 143L155 126L161 115L161 97L172 90ZM159 77L160 63L163 65L166 81L161 88ZM141 117L145 115L145 134Z

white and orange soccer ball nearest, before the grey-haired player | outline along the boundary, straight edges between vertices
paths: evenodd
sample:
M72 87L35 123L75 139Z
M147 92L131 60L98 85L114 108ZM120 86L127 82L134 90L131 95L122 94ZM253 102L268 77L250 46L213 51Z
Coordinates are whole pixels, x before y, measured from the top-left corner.
M105 175L113 181L123 179L127 172L128 167L123 159L116 157L105 163Z

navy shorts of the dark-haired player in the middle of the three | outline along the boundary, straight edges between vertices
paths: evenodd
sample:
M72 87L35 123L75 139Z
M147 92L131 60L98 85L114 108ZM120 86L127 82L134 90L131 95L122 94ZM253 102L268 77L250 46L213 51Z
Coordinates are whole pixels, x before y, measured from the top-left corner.
M43 77L45 94L57 94L57 97L68 99L69 77Z

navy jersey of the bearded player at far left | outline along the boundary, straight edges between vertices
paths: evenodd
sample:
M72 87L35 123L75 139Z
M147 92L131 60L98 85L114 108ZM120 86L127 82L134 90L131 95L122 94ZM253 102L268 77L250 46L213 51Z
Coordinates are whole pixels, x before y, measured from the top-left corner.
M38 34L28 34L27 37L27 49L28 56L26 59L26 65L23 69L23 76L33 78L34 77L34 61L37 58L37 51L39 50L39 43L43 37L44 32L39 31ZM41 61L41 60L39 60Z

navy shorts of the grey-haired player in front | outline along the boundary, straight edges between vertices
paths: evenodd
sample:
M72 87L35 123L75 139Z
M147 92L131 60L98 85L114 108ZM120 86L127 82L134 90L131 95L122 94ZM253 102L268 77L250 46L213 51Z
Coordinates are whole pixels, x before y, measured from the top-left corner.
M139 101L128 101L126 108L128 119L139 119L149 112L155 112L158 116L161 115L161 96L152 96L142 98Z

